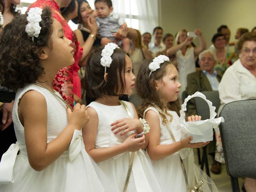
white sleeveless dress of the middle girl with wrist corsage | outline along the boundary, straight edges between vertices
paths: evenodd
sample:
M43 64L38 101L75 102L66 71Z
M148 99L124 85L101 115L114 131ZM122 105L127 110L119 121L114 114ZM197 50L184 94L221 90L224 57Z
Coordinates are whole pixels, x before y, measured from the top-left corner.
M129 102L128 106L132 117L134 110ZM107 148L124 142L124 140L133 132L128 132L124 136L115 135L111 131L110 124L122 118L128 118L124 106L106 106L98 102L91 102L88 107L94 108L98 115L98 130L95 140L95 148ZM119 191L122 191L126 175L128 172L131 152L124 152L103 162L98 162L102 171L118 185ZM162 187L153 170L152 163L148 154L139 150L134 154L134 164L128 184L127 192L162 192Z

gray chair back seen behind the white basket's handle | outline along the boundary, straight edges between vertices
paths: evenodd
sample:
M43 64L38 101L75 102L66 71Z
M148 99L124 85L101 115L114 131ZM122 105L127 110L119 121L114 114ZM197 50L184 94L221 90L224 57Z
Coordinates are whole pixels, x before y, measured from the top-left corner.
M202 94L206 96L206 99L212 102L212 106L216 107L215 112L218 112L220 107L220 97L218 91L202 91ZM195 97L196 113L202 117L202 120L210 118L209 106L205 100L200 97Z

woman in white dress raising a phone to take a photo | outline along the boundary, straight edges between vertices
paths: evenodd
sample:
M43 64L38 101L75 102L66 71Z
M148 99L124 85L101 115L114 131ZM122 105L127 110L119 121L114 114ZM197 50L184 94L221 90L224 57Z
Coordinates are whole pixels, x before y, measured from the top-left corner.
M205 50L206 42L200 29L195 29L194 33L199 37L200 45L191 45L193 38L187 36L187 30L181 30L176 34L176 45L167 50L167 56L175 55L178 60L179 82L182 84L182 93L187 86L187 75L196 71L195 56Z

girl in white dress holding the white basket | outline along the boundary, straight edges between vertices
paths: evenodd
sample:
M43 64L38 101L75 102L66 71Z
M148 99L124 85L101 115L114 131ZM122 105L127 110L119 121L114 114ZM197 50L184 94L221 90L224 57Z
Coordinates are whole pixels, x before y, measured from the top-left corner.
M191 144L192 137L181 138L181 130L176 129L181 109L180 87L175 60L170 61L164 55L144 60L138 72L136 90L144 100L138 107L138 114L150 125L148 155L166 191L190 192L200 180L204 181L203 191L218 191L212 180L194 165L192 148L203 147L209 142ZM190 116L188 120L200 118Z

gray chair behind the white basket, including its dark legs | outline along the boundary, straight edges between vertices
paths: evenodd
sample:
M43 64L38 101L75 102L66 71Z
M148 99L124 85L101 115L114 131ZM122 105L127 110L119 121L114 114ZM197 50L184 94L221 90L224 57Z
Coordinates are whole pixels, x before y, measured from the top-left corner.
M206 96L206 99L212 102L212 106L216 107L215 112L218 112L218 108L220 107L220 98L218 91L203 91L202 94ZM195 106L196 113L202 117L202 120L206 120L210 118L210 110L209 106L205 100L200 97L195 97ZM215 139L215 136L213 137ZM207 146L203 147L202 161L201 161L201 169L204 170L204 164L206 169L206 174L210 177L209 164L207 158Z

